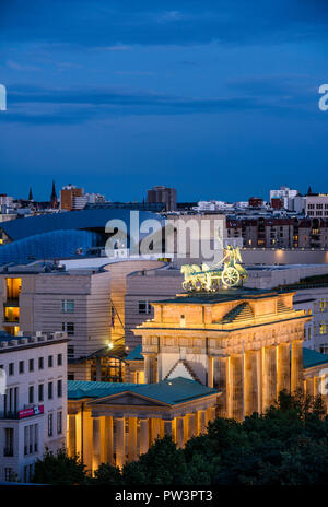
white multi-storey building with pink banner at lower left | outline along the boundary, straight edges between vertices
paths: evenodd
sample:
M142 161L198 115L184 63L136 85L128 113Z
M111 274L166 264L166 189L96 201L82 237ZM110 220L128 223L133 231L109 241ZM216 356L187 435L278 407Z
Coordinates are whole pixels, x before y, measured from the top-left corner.
M67 334L0 334L0 482L30 482L66 445Z

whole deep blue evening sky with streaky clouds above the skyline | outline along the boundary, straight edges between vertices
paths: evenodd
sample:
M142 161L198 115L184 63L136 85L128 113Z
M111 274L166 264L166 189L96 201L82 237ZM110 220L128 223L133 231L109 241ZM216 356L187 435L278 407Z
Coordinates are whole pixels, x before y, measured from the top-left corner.
M2 0L0 193L328 191L328 2Z

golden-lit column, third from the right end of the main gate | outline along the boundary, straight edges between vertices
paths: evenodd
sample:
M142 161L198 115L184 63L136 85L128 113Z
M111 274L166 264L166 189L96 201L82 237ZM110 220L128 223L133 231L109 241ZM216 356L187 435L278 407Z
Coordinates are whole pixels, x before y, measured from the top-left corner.
M277 347L265 346L262 355L262 411L277 400Z

